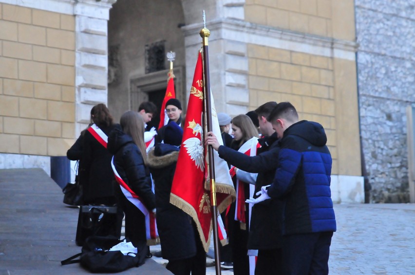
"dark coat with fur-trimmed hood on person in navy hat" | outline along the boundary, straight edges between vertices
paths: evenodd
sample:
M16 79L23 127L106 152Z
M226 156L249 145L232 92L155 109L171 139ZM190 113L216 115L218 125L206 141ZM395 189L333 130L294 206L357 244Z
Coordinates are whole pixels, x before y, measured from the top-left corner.
M196 255L194 223L183 210L170 204L170 191L179 148L158 143L149 152L149 167L154 180L157 230L163 258L180 260Z

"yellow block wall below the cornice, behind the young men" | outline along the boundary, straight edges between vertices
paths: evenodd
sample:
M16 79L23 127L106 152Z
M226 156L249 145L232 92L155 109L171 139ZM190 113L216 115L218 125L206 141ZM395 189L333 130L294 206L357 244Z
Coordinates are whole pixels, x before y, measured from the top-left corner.
M301 120L323 125L332 173L360 175L355 62L253 44L248 58L249 109L291 102Z

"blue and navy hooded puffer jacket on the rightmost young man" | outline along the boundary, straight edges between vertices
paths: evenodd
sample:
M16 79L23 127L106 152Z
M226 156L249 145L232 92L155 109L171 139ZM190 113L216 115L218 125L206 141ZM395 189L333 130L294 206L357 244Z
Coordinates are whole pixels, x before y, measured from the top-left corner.
M321 124L302 120L284 131L279 167L268 195L283 200L283 235L336 231L332 158Z

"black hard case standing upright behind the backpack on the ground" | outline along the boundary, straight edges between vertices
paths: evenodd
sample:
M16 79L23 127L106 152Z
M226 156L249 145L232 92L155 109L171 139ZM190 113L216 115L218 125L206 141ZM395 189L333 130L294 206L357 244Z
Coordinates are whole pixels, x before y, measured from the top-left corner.
M121 237L117 217L117 206L80 206L78 226L76 228L76 245L82 246L90 236Z

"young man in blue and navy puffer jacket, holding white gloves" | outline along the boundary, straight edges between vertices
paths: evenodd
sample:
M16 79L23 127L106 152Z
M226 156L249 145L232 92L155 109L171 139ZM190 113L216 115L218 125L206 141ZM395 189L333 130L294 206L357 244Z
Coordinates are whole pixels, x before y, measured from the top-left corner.
M268 117L280 140L278 168L262 195L283 201L284 274L328 274L336 219L330 191L332 158L321 124L299 121L279 103Z

